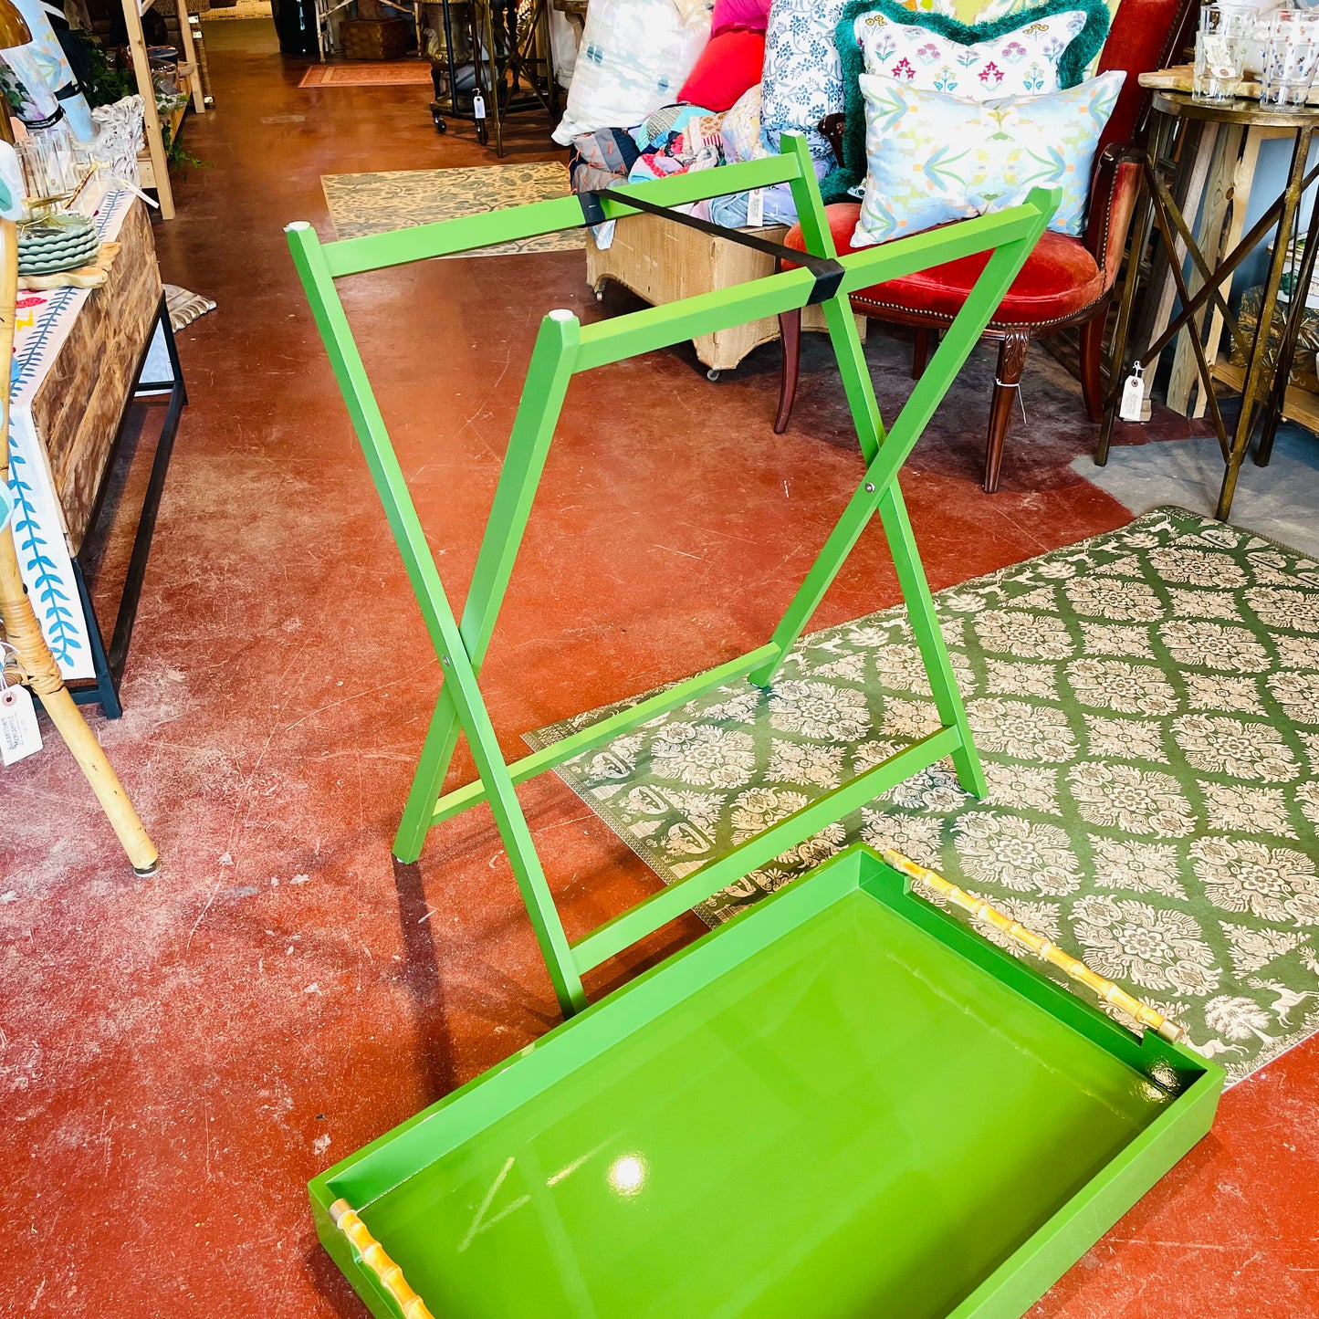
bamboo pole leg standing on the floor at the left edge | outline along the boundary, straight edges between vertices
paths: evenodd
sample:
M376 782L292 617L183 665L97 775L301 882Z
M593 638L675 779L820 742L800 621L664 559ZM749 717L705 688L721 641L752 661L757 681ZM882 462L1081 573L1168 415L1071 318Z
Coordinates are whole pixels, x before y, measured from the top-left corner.
M18 226L0 219L0 361L13 357L15 302L18 290ZM0 388L0 488L9 484L9 380ZM18 554L13 545L13 526L0 530L0 621L5 640L18 653L22 681L37 694L46 714L87 776L92 791L119 835L137 874L154 874L160 855L142 828L106 752L87 727L87 720L74 704L59 673L41 624L22 587Z

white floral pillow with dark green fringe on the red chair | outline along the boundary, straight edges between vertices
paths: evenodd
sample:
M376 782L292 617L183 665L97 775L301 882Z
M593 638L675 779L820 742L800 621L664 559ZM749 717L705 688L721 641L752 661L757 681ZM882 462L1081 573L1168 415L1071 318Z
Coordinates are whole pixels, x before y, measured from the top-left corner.
M1049 95L1082 82L1108 24L1105 0L1046 0L976 24L900 0L851 0L835 30L847 104L843 162L820 185L824 200L859 197L865 182L861 74L967 100Z

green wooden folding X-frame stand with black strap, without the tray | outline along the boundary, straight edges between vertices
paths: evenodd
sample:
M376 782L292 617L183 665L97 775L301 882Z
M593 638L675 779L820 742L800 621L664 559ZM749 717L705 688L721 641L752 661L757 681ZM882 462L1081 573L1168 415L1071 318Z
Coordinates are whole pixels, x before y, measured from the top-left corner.
M583 973L944 756L952 757L964 789L977 797L985 793L984 770L971 740L966 708L921 566L898 485L898 471L1045 231L1059 194L1037 189L1021 206L838 257L806 141L799 135L789 133L783 135L778 156L648 183L621 185L603 195L600 206L607 219L619 219L637 214L636 207L627 204L629 197L673 207L774 183L791 187L807 251L813 256L836 259L843 269L842 282L820 303L820 309L856 423L865 475L765 645L675 683L513 764L505 762L500 752L477 674L526 530L568 381L576 372L592 367L797 310L811 298L816 277L805 268L782 270L737 288L716 289L590 326L582 326L568 311L549 313L541 322L532 350L489 520L459 619L426 545L335 280L579 227L584 216L582 204L572 197L558 198L342 243L322 244L306 223L290 224L286 230L307 301L445 675L394 838L394 856L401 861L415 861L434 824L479 803L488 803L565 1014L586 1006ZM893 427L885 433L848 294L977 252L991 253L984 272L944 332ZM712 687L739 679L768 687L876 513L893 554L911 633L934 692L939 731L873 765L570 944L517 799L517 785L648 719L686 704ZM460 733L467 736L479 777L472 783L443 793Z

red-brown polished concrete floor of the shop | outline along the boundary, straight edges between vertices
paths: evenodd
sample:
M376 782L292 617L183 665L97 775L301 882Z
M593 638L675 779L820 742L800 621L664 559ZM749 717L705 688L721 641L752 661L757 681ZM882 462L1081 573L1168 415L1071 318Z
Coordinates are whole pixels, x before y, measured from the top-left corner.
M557 1020L488 815L390 864L438 669L281 233L324 228L322 173L488 157L456 125L435 136L425 88L303 92L268 24L207 41L219 108L187 146L214 169L179 185L157 243L165 277L220 306L181 336L191 406L127 712L94 719L165 869L132 876L58 745L0 778L4 1315L363 1315L305 1182ZM466 580L538 318L600 314L580 257L351 290L431 546ZM510 756L522 729L766 634L860 477L823 371L770 434L773 369L764 350L715 386L675 351L574 384L487 663ZM1067 471L1092 443L1079 405L1053 466L1018 430L993 499L977 435L959 460L918 454L905 487L934 584L1124 522ZM819 621L894 596L871 536ZM654 888L555 781L525 801L571 935ZM675 923L613 976L699 929ZM973 1095L967 1112L993 1130ZM1311 1042L1232 1091L1037 1312L1319 1314L1316 1112Z

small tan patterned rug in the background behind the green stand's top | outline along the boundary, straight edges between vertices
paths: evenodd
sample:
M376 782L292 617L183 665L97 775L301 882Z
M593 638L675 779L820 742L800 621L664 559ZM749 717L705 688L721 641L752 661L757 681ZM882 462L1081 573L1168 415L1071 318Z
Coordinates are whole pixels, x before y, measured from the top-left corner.
M505 206L549 202L568 195L568 171L561 161L529 165L477 165L464 169L404 169L379 174L322 174L321 189L330 207L335 236L412 228L480 215ZM586 230L542 233L518 243L463 252L462 256L508 256L518 252L580 252ZM447 259L446 260L454 260Z

